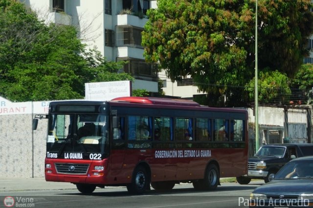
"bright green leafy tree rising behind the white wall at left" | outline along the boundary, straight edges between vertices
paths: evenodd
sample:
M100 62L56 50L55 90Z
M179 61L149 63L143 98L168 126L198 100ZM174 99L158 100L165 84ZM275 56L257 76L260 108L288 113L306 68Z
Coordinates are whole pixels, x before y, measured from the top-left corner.
M78 99L85 83L133 80L87 50L72 26L39 21L24 4L0 0L0 96L13 101Z

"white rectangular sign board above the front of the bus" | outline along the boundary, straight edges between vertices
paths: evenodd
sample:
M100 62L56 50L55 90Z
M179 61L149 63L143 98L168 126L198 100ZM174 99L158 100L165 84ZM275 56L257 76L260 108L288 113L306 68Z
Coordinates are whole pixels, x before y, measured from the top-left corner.
M85 83L85 99L88 101L110 101L113 98L131 96L131 81Z

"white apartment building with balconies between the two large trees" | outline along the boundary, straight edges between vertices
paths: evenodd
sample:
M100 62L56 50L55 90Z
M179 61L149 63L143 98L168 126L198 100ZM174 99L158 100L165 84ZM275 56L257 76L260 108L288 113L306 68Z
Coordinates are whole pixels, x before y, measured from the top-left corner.
M21 0L48 22L73 25L79 38L108 61L127 60L121 71L135 78L133 89L157 92L157 67L143 57L141 32L156 0Z

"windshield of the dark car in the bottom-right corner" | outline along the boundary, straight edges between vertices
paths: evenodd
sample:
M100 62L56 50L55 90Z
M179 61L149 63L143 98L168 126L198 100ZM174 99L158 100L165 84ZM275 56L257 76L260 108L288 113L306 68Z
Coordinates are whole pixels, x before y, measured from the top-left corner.
M313 178L313 160L296 160L287 163L275 175L274 180Z

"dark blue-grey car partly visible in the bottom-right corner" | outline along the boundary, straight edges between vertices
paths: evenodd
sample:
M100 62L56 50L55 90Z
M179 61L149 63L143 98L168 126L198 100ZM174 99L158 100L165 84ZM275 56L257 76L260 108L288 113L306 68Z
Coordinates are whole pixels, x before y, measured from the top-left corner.
M313 156L291 160L253 190L250 207L313 207Z

